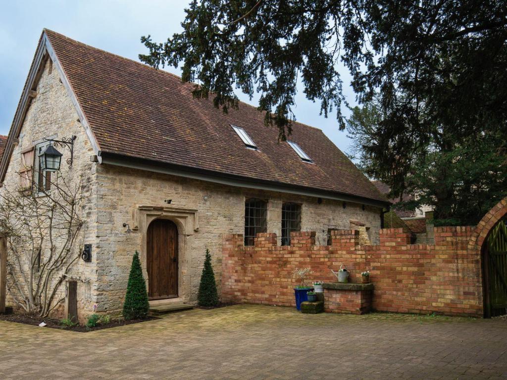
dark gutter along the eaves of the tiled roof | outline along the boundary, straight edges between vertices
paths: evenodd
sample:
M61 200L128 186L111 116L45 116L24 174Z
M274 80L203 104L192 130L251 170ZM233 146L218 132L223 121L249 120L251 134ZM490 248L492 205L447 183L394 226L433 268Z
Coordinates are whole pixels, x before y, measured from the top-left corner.
M320 190L306 186L289 185L277 181L254 179L235 174L216 172L212 170L199 169L183 165L168 164L165 162L154 161L149 159L139 159L117 153L99 151L97 156L98 162L101 164L122 166L131 169L139 169L156 173L170 174L179 177L198 179L213 183L220 183L223 185L243 188L255 188L288 194L297 194L314 198L325 198L336 201L364 204L380 208L389 207L390 205L390 203L387 201L383 202L380 200L355 197L348 194Z

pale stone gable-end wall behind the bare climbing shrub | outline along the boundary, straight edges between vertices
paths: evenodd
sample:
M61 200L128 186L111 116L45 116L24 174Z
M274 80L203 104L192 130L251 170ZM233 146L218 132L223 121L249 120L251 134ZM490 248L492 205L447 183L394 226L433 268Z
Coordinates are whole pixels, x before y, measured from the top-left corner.
M96 235L96 188L95 184L95 165L90 162L90 156L93 154L93 148L79 120L76 109L67 94L64 85L60 81L58 71L53 67L51 60L47 60L42 72L39 84L37 86L37 96L31 100L26 113L19 143L15 146L11 156L9 168L0 189L4 194L10 192L16 194L20 184L21 152L30 146L43 141L44 138L61 139L76 135L74 144L74 163L71 169L65 164L70 157L68 148L57 147L63 154L61 170L58 175L61 176L58 181L64 178L70 188L77 186L80 181L83 184L83 192L87 199L82 203L79 214L85 224L79 235L78 243L75 244L72 255L79 255L83 241L93 241ZM53 179L54 181L53 173ZM44 201L45 197L40 197ZM57 243L58 244L58 243ZM42 261L49 254L47 245L43 245ZM12 255L8 254L8 260L13 260ZM90 314L93 307L93 284L95 282L95 263L97 257L93 257L93 262L84 262L81 259L76 261L75 265L69 270L68 279L78 281L78 309L80 310L80 319L83 320L86 314ZM22 258L21 265L28 273L28 263L26 258ZM18 274L19 275L19 274ZM62 275L62 271L54 274L53 278ZM64 283L65 284L65 283ZM8 286L12 282L8 278ZM8 290L7 302L16 306L13 298L13 291ZM59 288L55 299L61 299L65 295L65 285ZM19 298L19 296L18 296ZM63 302L55 309L53 315L61 316L63 313Z

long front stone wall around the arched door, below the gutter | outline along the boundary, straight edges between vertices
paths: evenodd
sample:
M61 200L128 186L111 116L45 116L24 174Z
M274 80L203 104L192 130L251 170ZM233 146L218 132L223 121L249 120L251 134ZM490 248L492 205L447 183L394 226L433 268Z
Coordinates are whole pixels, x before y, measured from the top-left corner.
M139 206L165 208L165 212L195 210L198 231L185 231L180 236L179 295L184 302L195 302L206 248L221 284L222 236L244 232L244 203L248 198L267 201L267 231L281 235L283 202L302 205L301 227L319 230L318 239L327 241L328 229L349 227L350 220L362 220L378 241L380 209L370 206L277 192L266 192L215 184L196 179L152 173L112 165L97 166L98 224L96 251L97 301L99 310L116 311L121 307L128 279L132 254L138 250L146 273L146 227L126 233L123 223L141 225ZM171 204L164 201L170 199ZM142 209L142 207L141 207ZM141 210L142 211L142 210ZM161 211L162 212L162 211ZM171 218L169 216L162 216ZM182 231L180 231L182 233ZM184 248L182 248L184 247ZM144 260L143 260L144 258Z

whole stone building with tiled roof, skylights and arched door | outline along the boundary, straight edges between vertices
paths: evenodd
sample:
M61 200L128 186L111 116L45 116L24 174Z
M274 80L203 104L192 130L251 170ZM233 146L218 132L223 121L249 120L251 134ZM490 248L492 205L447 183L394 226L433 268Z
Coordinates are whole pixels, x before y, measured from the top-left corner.
M288 245L293 231L317 231L325 245L332 230L356 229L365 244L379 240L388 202L321 130L295 122L290 141L278 141L255 107L224 113L193 90L166 71L42 33L0 191L29 171L38 178L31 191L44 197L51 189L37 157L48 139L76 136L72 166L60 148L52 174L89 192L75 254L91 245L91 261L78 260L68 274L80 319L94 305L121 309L135 251L155 305L195 302L206 248L220 285L223 234L244 234L252 245L257 233L274 232Z

